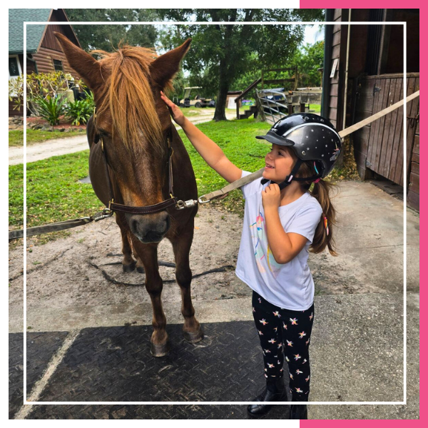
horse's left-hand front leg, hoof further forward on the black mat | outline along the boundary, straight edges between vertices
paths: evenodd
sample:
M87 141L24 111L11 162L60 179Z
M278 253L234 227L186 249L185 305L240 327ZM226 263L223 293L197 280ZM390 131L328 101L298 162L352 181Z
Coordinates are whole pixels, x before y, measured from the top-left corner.
M153 334L151 337L151 354L154 357L163 357L170 350L168 334L165 331L166 317L162 307L163 282L159 275L158 244L143 244L133 238L133 248L138 258L142 260L146 271L146 290L150 295L153 307Z

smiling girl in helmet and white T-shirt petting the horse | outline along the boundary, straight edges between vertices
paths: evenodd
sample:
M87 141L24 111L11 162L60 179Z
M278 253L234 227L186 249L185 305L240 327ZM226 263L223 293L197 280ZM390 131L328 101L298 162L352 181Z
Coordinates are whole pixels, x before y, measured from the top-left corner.
M250 174L233 165L220 147L190 123L161 92L171 116L200 156L232 183ZM263 180L244 185L245 216L236 275L253 289L253 316L265 363L266 387L248 413L260 417L284 394L282 365L287 361L292 402L307 402L309 345L314 320L314 282L308 250L326 247L337 255L331 225L330 173L342 147L332 124L321 116L295 113L277 121L265 136ZM310 186L313 185L312 191ZM290 419L307 419L307 406L292 404Z

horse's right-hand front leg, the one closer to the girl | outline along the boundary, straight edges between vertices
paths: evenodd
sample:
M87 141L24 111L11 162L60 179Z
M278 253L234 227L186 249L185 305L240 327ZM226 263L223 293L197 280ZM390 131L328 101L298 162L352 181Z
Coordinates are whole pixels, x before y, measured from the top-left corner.
M195 309L192 304L190 283L192 282L192 271L190 270L189 254L193 241L193 221L191 225L171 240L175 256L175 279L181 290L181 313L184 317L183 335L190 343L199 342L203 339L203 330L195 318Z

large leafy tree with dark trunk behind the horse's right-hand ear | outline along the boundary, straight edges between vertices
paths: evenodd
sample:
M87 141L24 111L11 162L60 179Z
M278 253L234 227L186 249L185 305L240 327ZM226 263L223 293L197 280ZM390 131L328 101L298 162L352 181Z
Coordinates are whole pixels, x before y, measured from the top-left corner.
M162 37L171 49L193 39L183 67L190 83L218 93L214 120L226 120L227 93L237 78L261 68L286 67L287 58L302 43L304 28L298 25L227 24L228 22L322 21L323 9L157 9L172 21L213 21L218 24L170 26ZM224 23L224 24L223 24Z

